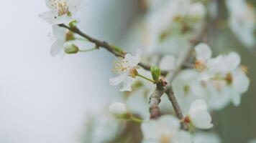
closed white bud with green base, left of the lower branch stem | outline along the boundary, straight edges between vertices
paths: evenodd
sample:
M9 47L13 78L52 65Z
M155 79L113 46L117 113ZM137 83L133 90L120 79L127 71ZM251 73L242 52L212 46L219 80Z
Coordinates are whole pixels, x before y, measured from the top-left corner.
M127 106L120 102L114 102L109 106L109 112L117 118L128 119L129 112Z

